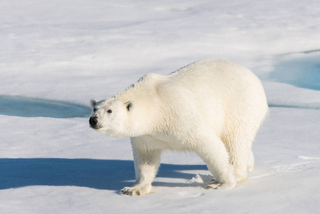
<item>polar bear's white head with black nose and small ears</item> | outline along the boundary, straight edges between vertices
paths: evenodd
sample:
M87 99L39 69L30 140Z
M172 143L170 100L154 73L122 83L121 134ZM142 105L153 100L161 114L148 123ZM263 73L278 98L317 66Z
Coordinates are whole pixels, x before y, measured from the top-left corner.
M120 98L98 101L93 98L90 104L92 108L92 115L89 119L91 128L108 136L128 136L130 113L133 109L132 101L125 102Z

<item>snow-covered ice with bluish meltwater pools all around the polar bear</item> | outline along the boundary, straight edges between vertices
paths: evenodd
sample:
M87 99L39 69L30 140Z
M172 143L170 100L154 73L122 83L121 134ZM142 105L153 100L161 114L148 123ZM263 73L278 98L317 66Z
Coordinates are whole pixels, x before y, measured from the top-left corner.
M318 1L14 0L0 13L1 213L319 210ZM199 157L163 153L153 193L120 195L135 179L129 139L88 127L90 99L202 58L263 80L271 108L254 172L232 190L205 190L212 176ZM79 117L66 116L75 108Z

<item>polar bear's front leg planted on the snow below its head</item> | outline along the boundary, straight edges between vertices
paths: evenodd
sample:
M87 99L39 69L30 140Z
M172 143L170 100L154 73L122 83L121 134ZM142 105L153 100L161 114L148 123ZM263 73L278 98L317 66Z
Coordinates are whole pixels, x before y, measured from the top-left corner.
M121 190L123 195L145 195L151 191L151 183L158 172L161 151L148 149L139 138L131 138L135 162L135 185Z

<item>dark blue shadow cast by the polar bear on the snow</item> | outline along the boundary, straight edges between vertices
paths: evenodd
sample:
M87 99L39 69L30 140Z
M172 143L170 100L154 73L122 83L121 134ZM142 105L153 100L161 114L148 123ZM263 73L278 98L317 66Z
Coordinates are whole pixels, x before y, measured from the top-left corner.
M206 165L161 164L158 177L190 180L194 173L185 170L207 170ZM118 191L133 185L133 161L65 159L65 158L2 158L0 189L30 185L81 186ZM190 183L154 182L155 186L195 186Z

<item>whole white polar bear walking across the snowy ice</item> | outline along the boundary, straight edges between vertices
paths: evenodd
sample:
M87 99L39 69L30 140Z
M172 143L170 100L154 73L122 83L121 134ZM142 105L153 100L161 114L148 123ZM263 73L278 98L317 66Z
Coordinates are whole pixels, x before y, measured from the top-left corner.
M206 188L234 188L253 170L252 141L269 111L257 76L222 59L148 74L91 107L91 128L130 137L136 181L125 195L150 193L163 150L197 153L215 177Z

